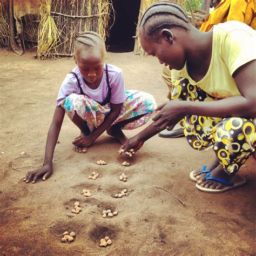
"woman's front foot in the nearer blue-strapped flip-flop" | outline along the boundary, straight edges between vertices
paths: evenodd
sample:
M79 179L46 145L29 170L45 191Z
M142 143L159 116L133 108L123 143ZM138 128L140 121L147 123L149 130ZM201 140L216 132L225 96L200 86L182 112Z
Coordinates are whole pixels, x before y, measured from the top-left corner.
M215 178L220 178L220 179L224 179L226 181L230 181L233 178L234 174L230 174L228 175L224 170L223 167L221 165L218 165L217 168L215 168L212 172L211 172L211 177L215 177ZM201 179L199 181L197 181L197 184L199 184L201 187L205 187L205 188L212 188L212 189L217 189L217 190L221 190L222 188L226 187L225 184L219 182L219 181L215 181L215 180L205 180L205 181L201 181Z

